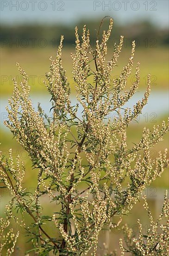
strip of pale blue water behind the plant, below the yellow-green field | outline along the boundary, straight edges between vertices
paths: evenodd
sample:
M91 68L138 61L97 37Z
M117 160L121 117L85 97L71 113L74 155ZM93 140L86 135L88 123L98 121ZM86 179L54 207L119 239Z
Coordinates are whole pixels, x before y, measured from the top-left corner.
M137 92L133 97L130 99L130 101L125 104L124 107L128 107L132 109L132 106L136 104L137 101L141 100L144 96L144 92ZM44 109L44 112L51 116L50 108L51 108L51 102L50 102L51 96L49 94L32 94L31 95L31 101L33 104L33 107L35 110L38 108L38 102L41 103L41 107ZM77 100L75 98L71 99L72 105L75 105L77 103ZM5 128L3 121L7 119L7 112L6 112L6 105L8 105L8 97L3 97L0 101L0 126L1 128ZM81 116L82 106L79 104L78 109L78 116ZM123 111L122 111L123 114ZM156 120L162 116L162 115L169 115L169 93L168 92L162 92L162 91L155 91L151 92L148 104L144 106L142 114L138 116L138 121L150 121L150 122L156 122ZM117 116L115 113L110 113L109 117L113 119L113 117Z

